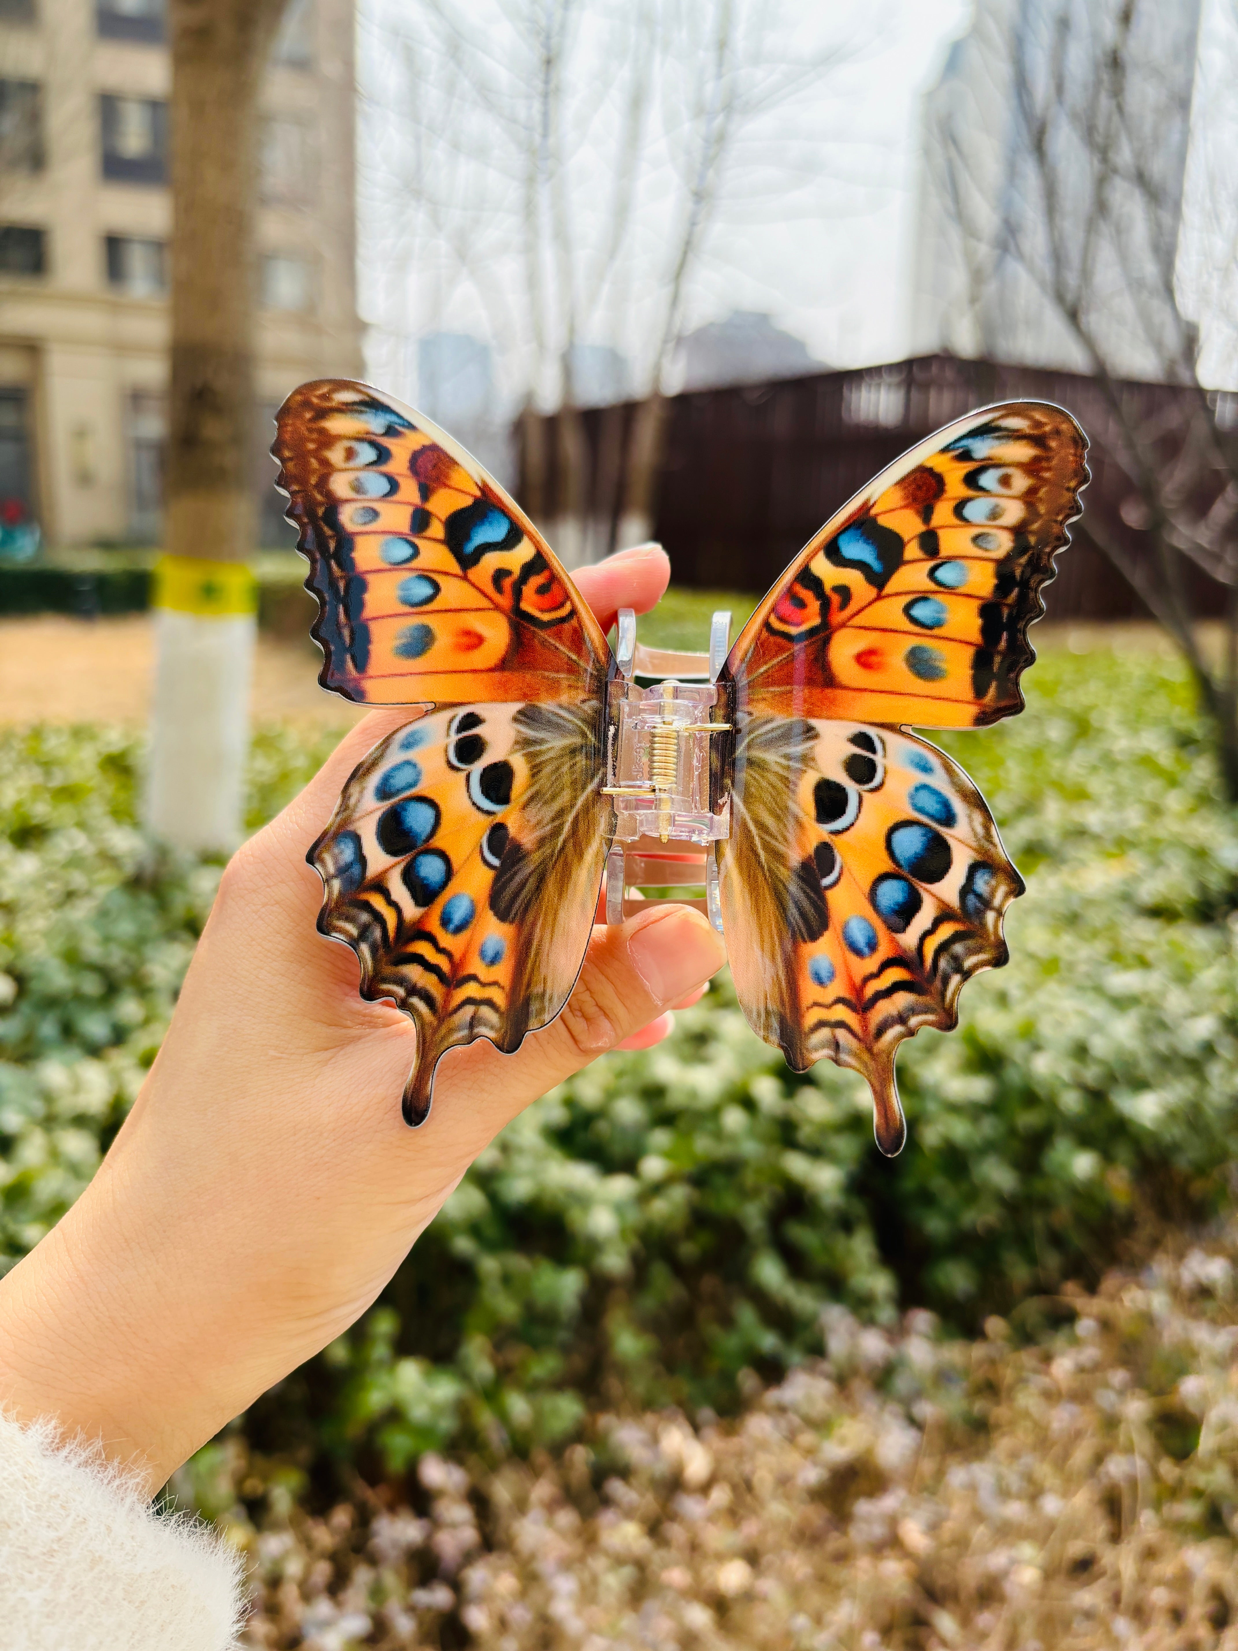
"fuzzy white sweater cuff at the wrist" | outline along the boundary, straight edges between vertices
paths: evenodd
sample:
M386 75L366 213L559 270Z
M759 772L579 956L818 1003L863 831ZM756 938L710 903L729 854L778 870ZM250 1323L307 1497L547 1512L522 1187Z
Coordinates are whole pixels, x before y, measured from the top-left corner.
M117 1468L0 1415L0 1641L7 1651L226 1651L241 1560L162 1519Z

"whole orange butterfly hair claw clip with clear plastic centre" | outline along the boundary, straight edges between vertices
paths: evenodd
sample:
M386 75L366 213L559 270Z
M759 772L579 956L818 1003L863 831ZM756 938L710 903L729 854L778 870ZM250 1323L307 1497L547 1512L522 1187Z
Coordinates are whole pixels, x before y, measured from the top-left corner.
M404 1088L477 1038L512 1053L563 1009L606 875L695 887L739 1004L796 1071L829 1057L906 1134L898 1043L957 1022L1007 961L1023 892L984 797L910 728L1023 708L1027 629L1088 480L1075 419L1009 401L883 471L730 644L616 650L520 507L451 436L368 385L302 385L274 456L319 599L320 682L409 721L360 763L309 852L319 930L361 996L418 1025Z

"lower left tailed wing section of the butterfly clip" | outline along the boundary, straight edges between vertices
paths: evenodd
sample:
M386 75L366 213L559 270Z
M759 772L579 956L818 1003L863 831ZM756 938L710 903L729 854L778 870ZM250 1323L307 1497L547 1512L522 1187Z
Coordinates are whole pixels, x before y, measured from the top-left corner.
M596 705L477 703L383 740L310 850L324 934L361 996L418 1025L404 1116L429 1113L459 1043L510 1053L560 1012L584 958L607 847Z

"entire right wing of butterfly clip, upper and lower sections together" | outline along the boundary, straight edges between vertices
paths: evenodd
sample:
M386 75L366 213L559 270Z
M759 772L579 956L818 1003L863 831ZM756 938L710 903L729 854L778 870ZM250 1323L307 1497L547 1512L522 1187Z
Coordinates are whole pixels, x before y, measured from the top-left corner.
M865 1075L878 1144L905 1128L895 1050L957 1020L962 982L1005 963L1022 882L976 786L896 723L1022 710L1027 627L1088 479L1075 419L1042 403L939 431L787 568L720 682L735 723L718 845L739 1002L797 1071Z

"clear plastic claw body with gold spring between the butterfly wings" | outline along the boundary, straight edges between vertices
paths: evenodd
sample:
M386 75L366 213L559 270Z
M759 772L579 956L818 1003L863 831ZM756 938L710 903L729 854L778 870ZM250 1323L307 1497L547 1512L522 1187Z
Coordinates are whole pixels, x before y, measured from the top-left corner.
M711 806L711 741L730 731L715 720L718 672L726 659L730 613L716 613L708 654L642 647L636 614L619 613L619 677L611 682L604 794L616 814L606 860L606 921L637 906L690 905L721 931L713 844L730 835L730 799ZM637 679L645 680L642 685ZM683 888L683 895L665 893ZM700 888L692 898L687 890ZM632 892L655 893L632 898Z

